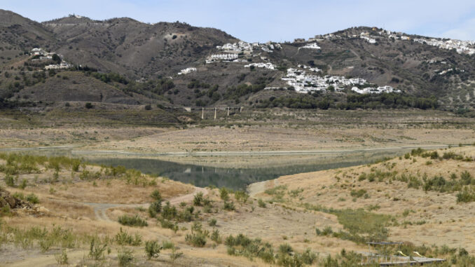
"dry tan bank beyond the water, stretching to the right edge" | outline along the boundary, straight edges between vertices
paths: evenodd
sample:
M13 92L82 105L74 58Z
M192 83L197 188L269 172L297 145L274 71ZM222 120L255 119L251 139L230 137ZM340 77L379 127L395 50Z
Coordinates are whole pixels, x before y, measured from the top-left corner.
M192 140L192 141L191 141ZM133 140L92 144L81 149L141 153L218 153L221 151L338 151L401 146L472 144L469 129L285 129L191 128ZM78 150L81 150L78 149Z

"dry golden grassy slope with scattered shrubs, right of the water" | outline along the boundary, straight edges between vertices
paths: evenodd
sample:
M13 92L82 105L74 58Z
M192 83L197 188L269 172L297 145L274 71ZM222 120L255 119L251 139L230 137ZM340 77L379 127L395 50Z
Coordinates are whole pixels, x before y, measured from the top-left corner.
M474 146L450 149L464 156L475 156ZM441 155L444 151L439 150ZM425 221L421 225L392 226L390 234L392 240L408 241L418 245L435 244L448 245L449 247L464 247L470 253L475 252L475 203L457 203L456 193L439 193L437 191L423 191L422 189L408 189L404 182L368 182L358 181L359 174L369 173L371 168L388 171L388 166L393 166L390 171L417 175L427 174L427 177L442 175L446 179L450 174L460 174L467 171L475 177L475 163L460 160L431 160L427 165L427 158L406 160L395 158L377 165L364 165L347 167L338 170L309 172L280 177L275 180L252 184L249 192L254 197L270 198L265 191L275 186L287 186L286 191L303 189L298 198L286 196L285 205L298 207L301 203L311 203L333 207L368 208L378 204L378 213L391 214L399 221ZM357 198L352 201L350 191L364 189L369 198ZM395 201L395 199L397 201ZM406 217L405 210L413 210Z

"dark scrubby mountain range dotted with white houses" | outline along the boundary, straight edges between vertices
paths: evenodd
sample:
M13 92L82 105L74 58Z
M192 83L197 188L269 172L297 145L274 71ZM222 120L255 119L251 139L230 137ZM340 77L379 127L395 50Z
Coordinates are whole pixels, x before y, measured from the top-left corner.
M11 11L0 15L0 97L20 104L50 100L212 107L475 107L475 56L469 50L474 43L352 27L308 40L251 44L219 29L181 22L151 25L130 18L70 15L38 23ZM76 74L62 78L62 70L41 71L54 62L35 61L29 52L38 47L62 55ZM211 55L225 54L233 54L238 62L205 63L212 61ZM178 75L190 67L195 69ZM299 75L306 71L303 80L308 83L301 88L318 90L283 90L295 88L282 80L290 75L289 68ZM319 72L310 75L310 68ZM343 78L317 85L315 77L326 75ZM357 85L361 89L390 86L401 94L358 95L350 90L354 84L342 82L349 78L364 79ZM324 93L321 89L327 85Z

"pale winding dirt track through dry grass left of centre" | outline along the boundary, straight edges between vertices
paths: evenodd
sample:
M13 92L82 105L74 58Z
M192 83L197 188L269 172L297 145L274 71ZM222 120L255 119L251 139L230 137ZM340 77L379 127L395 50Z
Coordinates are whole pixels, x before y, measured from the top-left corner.
M170 198L168 200L163 200L163 202L169 201L171 205L178 205L181 202L187 202L193 200L195 194L197 193L203 193L203 196L206 196L208 194L208 190L201 188L201 187L195 187L195 191L193 193L188 193L183 196L177 196L174 198ZM97 220L99 221L112 221L108 216L107 216L107 210L114 208L114 207L143 207L145 209L149 208L150 203L144 203L144 204L115 204L115 203L79 203L83 205L88 205L94 209L94 214Z

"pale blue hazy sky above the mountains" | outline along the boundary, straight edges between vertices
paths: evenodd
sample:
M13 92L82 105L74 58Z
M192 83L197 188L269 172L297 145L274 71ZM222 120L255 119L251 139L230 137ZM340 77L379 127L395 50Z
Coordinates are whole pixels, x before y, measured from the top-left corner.
M179 20L244 41L291 41L353 26L475 40L475 0L0 0L0 8L39 22L72 13L95 20Z

